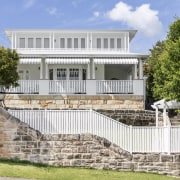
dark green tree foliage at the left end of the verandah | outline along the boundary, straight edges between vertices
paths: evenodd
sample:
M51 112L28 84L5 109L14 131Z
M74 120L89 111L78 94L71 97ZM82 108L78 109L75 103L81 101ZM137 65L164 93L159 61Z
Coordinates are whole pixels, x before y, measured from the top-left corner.
M18 61L19 56L15 50L0 47L0 85L5 88L18 85Z

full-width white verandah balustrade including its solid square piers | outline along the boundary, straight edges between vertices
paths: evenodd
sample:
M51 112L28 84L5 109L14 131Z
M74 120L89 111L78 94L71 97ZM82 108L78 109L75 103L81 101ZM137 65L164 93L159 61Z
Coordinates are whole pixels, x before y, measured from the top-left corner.
M132 94L144 95L144 80L20 80L18 87L0 93L11 94Z

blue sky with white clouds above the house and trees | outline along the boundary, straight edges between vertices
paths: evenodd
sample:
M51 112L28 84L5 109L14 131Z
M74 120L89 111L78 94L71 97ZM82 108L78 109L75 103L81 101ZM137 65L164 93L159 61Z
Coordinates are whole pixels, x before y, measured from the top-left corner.
M149 53L175 16L180 0L0 0L0 45L4 29L136 29L131 51Z

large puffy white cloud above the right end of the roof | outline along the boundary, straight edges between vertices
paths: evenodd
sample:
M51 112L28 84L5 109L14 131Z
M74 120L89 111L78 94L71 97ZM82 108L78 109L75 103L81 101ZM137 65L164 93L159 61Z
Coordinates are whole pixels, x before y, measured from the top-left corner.
M106 15L111 20L124 22L149 37L159 34L162 30L158 11L152 10L150 4L142 4L133 10L132 6L120 1Z

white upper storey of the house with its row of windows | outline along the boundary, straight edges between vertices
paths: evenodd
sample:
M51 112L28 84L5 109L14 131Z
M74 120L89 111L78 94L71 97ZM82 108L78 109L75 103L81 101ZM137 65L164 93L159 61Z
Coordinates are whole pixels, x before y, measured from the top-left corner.
M6 32L7 34L9 32ZM123 49L128 52L129 42L136 31L131 35L127 31L12 31L11 42L13 48L75 48L97 49ZM23 39L23 45L20 42ZM61 44L64 39L64 45Z

